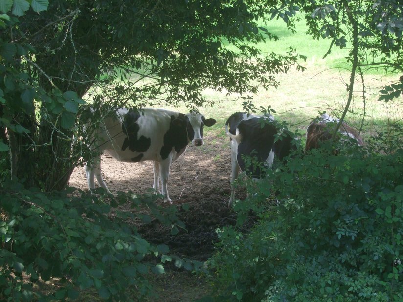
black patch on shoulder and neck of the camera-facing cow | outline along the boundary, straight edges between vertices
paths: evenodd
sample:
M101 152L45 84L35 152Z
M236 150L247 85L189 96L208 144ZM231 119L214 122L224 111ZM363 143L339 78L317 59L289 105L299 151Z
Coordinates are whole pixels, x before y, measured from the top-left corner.
M195 132L184 114L179 113L178 117L172 115L169 129L164 135L164 145L160 151L161 158L166 159L172 148L175 148L177 152L181 151L194 136Z

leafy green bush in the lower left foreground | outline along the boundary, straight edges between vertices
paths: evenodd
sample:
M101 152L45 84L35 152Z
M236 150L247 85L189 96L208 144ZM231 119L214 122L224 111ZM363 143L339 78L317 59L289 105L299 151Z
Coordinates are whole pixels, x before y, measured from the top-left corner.
M176 207L157 206L160 196L152 192L140 197L130 192L91 195L75 188L44 193L7 182L0 195L1 301L74 300L89 289L109 301L139 301L153 295L147 278L163 273L164 262L199 266L169 256L168 246L148 243L130 224L154 216L172 225L172 233L183 227ZM126 202L134 211L118 209ZM56 290L34 288L51 278L60 283Z

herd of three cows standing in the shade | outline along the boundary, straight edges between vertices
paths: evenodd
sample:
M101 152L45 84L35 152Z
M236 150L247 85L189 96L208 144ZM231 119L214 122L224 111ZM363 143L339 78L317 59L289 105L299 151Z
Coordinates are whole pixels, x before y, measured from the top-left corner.
M336 122L337 119L327 114L313 120L307 129L305 150L318 148L321 141L332 138ZM196 112L182 114L157 108L119 108L112 116L103 119L101 127L92 134L91 151L98 155L86 164L90 190L95 188L96 178L98 184L110 192L101 175L100 154L106 152L123 162L153 160L153 188L164 196L165 202L172 203L167 188L171 164L183 154L190 142L194 146L202 146L203 127L210 127L215 123L215 119L206 119ZM229 206L235 198L234 182L239 170L253 178L261 178L264 172L262 166L271 167L274 156L285 160L297 148L298 141L278 125L269 114L256 116L237 112L226 121L225 129L231 142L232 167ZM344 122L338 133L363 145L357 131ZM279 134L281 139L276 139ZM246 162L250 157L260 164L250 165Z

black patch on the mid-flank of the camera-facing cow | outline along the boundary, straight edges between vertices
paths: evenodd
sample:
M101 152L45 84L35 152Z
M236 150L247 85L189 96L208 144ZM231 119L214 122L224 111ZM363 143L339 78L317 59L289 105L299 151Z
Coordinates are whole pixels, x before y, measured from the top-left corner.
M126 135L126 138L122 145L122 151L125 151L127 147L132 152L145 152L150 148L151 138L141 135L137 139L140 126L136 123L140 118L140 113L133 111L132 109L125 115L122 123L122 131Z

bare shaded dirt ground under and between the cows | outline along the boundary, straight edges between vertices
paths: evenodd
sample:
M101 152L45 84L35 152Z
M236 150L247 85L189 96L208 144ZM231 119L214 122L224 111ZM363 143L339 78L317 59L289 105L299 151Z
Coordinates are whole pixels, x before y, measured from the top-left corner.
M228 210L231 175L229 140L204 136L204 145L189 145L186 152L171 166L168 191L174 205L186 203L188 211L179 207L179 219L186 230L171 235L170 229L157 220L137 225L142 236L153 244L166 244L174 255L199 261L207 260L218 241L216 229L235 223L235 213ZM153 162L123 163L103 155L104 179L111 190L145 193L153 186ZM77 167L70 186L87 189L84 167ZM245 190L237 198L245 198ZM163 201L159 201L163 204ZM170 206L164 204L164 206ZM129 207L128 207L129 209ZM150 301L194 301L209 291L206 280L169 265L167 273L154 279L160 298Z

